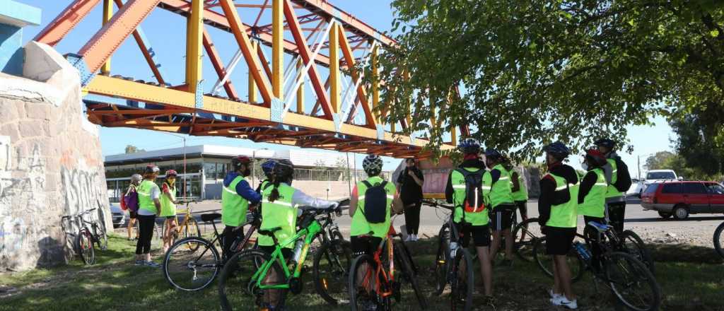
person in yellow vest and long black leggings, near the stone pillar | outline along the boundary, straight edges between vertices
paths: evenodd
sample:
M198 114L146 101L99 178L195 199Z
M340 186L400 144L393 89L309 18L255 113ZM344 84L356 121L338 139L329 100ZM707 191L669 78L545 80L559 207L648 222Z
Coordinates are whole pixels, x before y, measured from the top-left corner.
M161 265L151 261L151 239L153 238L153 225L156 215L161 214L161 190L156 184L159 176L159 167L146 166L143 172L143 182L138 185L138 243L136 243L135 265L146 265L159 268Z

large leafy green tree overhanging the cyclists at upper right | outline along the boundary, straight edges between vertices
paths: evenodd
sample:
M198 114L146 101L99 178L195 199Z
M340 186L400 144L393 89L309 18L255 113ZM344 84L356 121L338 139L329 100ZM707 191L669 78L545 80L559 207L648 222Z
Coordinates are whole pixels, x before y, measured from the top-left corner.
M394 0L397 46L379 56L387 121L406 133L470 124L485 145L533 159L542 144L626 142L652 116L711 114L724 139L724 1ZM367 68L369 69L369 67ZM457 89L460 85L461 96ZM450 123L431 126L429 103ZM632 149L628 146L629 151Z

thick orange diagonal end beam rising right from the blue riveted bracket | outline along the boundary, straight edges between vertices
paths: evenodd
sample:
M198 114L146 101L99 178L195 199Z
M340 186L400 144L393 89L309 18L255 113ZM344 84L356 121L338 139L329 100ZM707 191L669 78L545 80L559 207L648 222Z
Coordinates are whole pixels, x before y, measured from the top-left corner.
M89 72L96 72L125 38L151 13L160 0L130 0L98 30L78 54L83 56Z

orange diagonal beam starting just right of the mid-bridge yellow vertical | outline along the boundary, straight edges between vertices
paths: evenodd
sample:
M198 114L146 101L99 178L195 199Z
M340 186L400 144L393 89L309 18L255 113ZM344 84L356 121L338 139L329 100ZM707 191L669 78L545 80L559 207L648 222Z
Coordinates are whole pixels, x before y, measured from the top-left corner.
M292 30L292 35L294 36L294 40L296 41L299 48L299 55L302 57L305 65L309 64L309 62L312 61L312 52L309 50L306 38L304 38L304 35L300 30L299 22L297 20L297 14L295 14L294 9L292 9L292 4L289 0L284 0L284 15L287 18L287 22L290 23L289 26ZM332 27L334 26L335 25L332 25ZM312 87L314 88L314 92L316 93L317 98L319 98L322 111L324 111L324 117L326 119L332 119L333 109L331 103L329 102L329 95L327 95L327 91L321 85L321 77L319 76L319 72L317 72L316 66L314 64L309 67L308 74L309 80L311 81Z

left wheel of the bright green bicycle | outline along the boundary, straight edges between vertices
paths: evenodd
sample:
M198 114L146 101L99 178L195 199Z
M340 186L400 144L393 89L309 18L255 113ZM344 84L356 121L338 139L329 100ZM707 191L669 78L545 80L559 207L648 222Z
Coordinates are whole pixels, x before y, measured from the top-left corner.
M256 302L261 307L283 307L285 301L285 289L259 289L258 279L255 274L258 271L257 263L266 263L271 256L261 250L245 250L234 254L224 265L219 276L219 299L222 310L252 310ZM279 281L271 284L287 284L282 266L279 260L274 261L266 272L266 276L276 274ZM264 281L263 281L264 282ZM251 300L249 297L254 297Z

